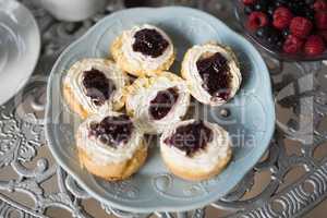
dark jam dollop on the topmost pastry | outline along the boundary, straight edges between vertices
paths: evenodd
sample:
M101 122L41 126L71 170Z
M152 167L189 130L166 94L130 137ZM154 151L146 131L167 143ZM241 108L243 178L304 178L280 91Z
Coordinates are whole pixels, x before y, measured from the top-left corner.
M134 35L133 50L152 58L158 58L169 46L169 43L156 29L144 28Z

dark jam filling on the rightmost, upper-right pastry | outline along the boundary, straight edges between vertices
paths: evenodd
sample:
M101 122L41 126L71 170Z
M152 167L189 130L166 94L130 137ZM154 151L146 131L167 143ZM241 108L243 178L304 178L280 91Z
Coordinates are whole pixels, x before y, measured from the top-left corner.
M232 75L228 60L219 52L196 61L197 71L203 80L203 87L213 96L225 100L230 95Z

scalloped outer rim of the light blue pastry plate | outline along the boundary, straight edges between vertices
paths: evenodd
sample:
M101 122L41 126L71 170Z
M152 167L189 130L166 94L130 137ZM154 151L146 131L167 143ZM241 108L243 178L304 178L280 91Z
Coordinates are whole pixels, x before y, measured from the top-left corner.
M249 44L249 46L252 47L253 51L254 51L254 56L256 56L261 62L261 69L264 69L265 73L263 74L263 76L265 76L265 80L267 80L269 83L268 85L268 96L266 96L268 98L268 101L271 104L271 110L272 110L272 114L271 114L271 121L274 124L271 124L270 126L268 126L267 129L267 135L266 137L269 138L268 141L271 141L274 132L275 132L275 122L276 122L276 109L275 109L275 104L274 104L274 97L272 97L272 89L271 89L271 83L270 83L270 76L269 76L269 71L267 69L267 65L265 64L263 57L259 55L258 50L249 41L246 40L243 36L241 36L239 33L232 31L229 26L227 26L222 21L220 21L219 19L215 17L214 15L210 15L206 12L196 10L196 9L192 9L192 8L186 8L186 7L162 7L162 8L132 8L132 9L125 9L125 10L121 10L121 11L117 11L114 13L109 14L108 16L105 16L101 21L99 21L97 24L95 24L93 27L90 27L83 36L81 36L78 39L76 39L75 41L73 41L61 55L60 57L57 59L56 63L53 64L53 68L51 70L51 74L49 76L49 82L47 84L47 99L50 99L51 97L51 93L52 93L52 78L56 75L55 72L55 66L57 66L57 64L61 61L61 59L64 57L65 53L68 53L73 47L75 47L76 45L78 45L81 41L83 41L84 39L86 39L88 37L88 35L90 35L93 33L93 31L101 25L102 22L105 22L105 20L112 17L119 13L128 13L128 12L140 12L140 11L144 11L144 10L150 10L150 11L156 11L156 10L160 10L160 11L165 11L165 10L182 10L184 12L191 12L191 13L196 13L198 15L201 15L204 19L209 19L211 21L215 21L216 23L220 23L223 26L226 26L226 28L228 31L230 31L232 34L234 34L234 36L238 38L238 40L243 40L246 44ZM254 95L256 98L257 96ZM49 101L48 101L49 102ZM90 196L95 197L97 201L99 201L100 203L105 203L108 206L114 207L117 209L121 209L121 210L126 210L126 211L132 211L132 213L153 213L153 211L185 211L185 210L193 210L203 206L206 206L210 203L214 203L216 201L218 201L220 197L222 197L223 195L228 194L228 192L230 192L234 186L237 186L239 184L239 182L241 182L241 180L246 175L246 173L249 171L251 171L251 169L253 168L253 166L264 156L265 152L268 149L270 142L267 143L267 145L265 145L265 147L263 148L262 153L257 154L255 157L255 159L257 159L254 164L251 164L252 167L250 167L249 169L244 169L244 171L242 173L240 173L238 175L238 178L234 178L233 180L233 184L230 185L228 190L226 190L225 192L222 192L219 196L217 197L210 197L202 203L193 203L186 206L179 206L179 208L173 208L172 206L157 206L157 207L135 207L135 206L126 206L126 205L122 205L116 202L112 202L104 196L100 196L99 194L97 194L96 192L94 192L92 189L88 187L88 185L83 182L83 180L80 178L80 175L77 175L73 170L70 169L70 167L57 155L57 152L53 147L53 145L56 144L55 140L50 137L51 135L51 131L50 131L50 125L51 123L49 123L49 113L50 113L50 105L51 104L47 104L46 107L46 124L45 124L45 135L46 135L46 140L48 142L48 147L51 152L51 154L53 155L55 159L57 160L57 162L64 169L66 170L74 180L76 180L76 182L88 193L90 194ZM237 180L237 182L235 182Z

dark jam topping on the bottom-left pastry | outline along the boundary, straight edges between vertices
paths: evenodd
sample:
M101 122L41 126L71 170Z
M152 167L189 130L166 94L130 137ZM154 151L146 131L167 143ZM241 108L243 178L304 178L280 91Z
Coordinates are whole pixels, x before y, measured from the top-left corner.
M118 147L129 142L133 129L132 121L125 114L106 117L99 123L90 123L88 136L94 136L111 147Z

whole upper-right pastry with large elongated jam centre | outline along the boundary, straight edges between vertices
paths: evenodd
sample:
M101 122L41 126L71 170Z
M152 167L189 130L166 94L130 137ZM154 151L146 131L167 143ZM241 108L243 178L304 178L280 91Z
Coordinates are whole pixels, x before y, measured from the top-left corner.
M182 76L198 101L220 106L231 99L241 85L239 62L229 47L218 44L194 46L182 62Z

